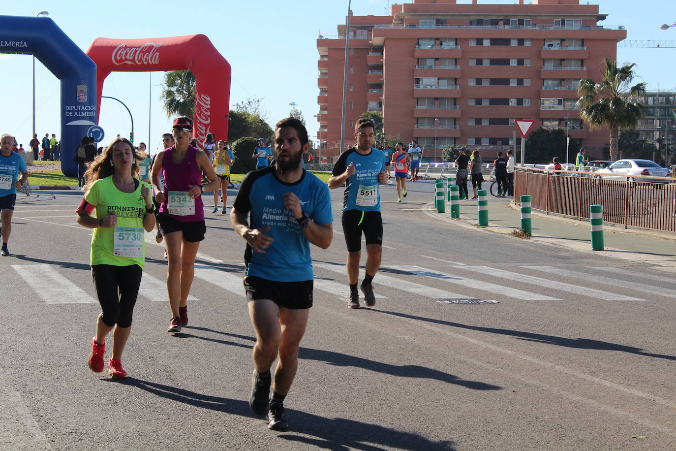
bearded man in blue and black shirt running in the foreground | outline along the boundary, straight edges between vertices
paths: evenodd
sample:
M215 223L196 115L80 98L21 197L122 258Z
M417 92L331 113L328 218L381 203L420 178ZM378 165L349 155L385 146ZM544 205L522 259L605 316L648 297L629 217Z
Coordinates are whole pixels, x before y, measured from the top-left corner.
M329 188L301 168L308 142L298 119L277 122L274 165L245 176L230 215L247 242L244 287L256 331L249 406L275 431L289 427L283 401L312 307L310 243L327 249L333 239ZM270 368L278 355L270 399Z

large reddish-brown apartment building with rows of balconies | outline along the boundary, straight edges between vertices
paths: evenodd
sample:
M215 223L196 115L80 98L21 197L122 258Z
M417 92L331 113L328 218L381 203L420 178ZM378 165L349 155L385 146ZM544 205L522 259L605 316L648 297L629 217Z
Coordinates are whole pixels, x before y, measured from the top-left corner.
M412 0L391 5L389 16L351 13L349 30L343 24L337 36L320 36L322 155L341 151L346 34L346 145L360 114L379 111L385 133L416 139L437 159L446 145L520 143L514 119L568 128L572 139L601 149L608 131L587 130L580 120L577 85L600 78L603 58L614 59L626 37L624 27L598 24L606 14L579 0L515 1Z

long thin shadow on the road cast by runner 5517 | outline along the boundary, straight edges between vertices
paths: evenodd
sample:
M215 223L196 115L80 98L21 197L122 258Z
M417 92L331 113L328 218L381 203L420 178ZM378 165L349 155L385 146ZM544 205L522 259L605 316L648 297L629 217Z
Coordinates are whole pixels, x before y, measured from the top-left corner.
M434 318L423 318L422 316L414 316L406 313L386 312L385 310L380 310L380 312L393 316L401 316L402 318L410 318L418 321L427 321L428 323L458 327L460 329L469 329L472 331L481 331L487 333L497 333L500 335L510 335L511 337L525 341L535 341L536 343L564 346L565 348L589 349L600 351L620 351L620 352L628 352L629 354L637 354L639 356L676 360L676 356L667 356L665 354L653 354L651 352L644 352L644 350L642 350L641 348L633 348L632 346L625 346L617 343L608 343L608 341L592 340L586 338L566 338L566 337L557 337L556 335L543 335L541 333L512 331L510 329L495 329L493 327L470 326L466 324L452 323L450 321L443 321Z

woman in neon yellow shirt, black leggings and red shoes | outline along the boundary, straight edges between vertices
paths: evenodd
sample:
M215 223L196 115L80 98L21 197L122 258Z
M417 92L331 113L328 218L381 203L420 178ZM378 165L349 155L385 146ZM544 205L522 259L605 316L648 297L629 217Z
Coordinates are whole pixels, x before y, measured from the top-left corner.
M150 186L138 179L140 161L130 141L115 139L84 173L87 191L76 210L78 224L94 229L91 273L101 304L89 368L103 371L105 337L113 330L111 377L127 376L121 358L143 275L143 231L155 227Z

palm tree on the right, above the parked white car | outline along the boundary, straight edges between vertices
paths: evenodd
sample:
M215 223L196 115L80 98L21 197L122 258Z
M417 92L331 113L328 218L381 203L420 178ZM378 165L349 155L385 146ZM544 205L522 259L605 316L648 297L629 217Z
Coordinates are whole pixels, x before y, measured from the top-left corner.
M617 160L619 131L636 128L638 120L646 116L643 105L637 102L637 97L646 92L646 83L629 87L636 76L635 63L621 68L609 58L604 58L604 63L606 72L601 82L592 78L580 80L577 107L589 128L610 128L610 160Z

